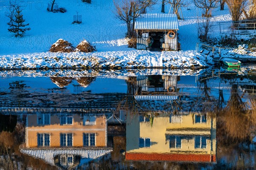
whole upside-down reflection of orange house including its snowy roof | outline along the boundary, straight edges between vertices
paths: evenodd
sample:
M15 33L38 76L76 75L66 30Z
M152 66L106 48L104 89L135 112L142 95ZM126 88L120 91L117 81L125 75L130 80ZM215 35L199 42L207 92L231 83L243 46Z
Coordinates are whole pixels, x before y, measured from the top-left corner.
M58 167L73 168L112 151L105 116L32 114L26 118L22 153Z

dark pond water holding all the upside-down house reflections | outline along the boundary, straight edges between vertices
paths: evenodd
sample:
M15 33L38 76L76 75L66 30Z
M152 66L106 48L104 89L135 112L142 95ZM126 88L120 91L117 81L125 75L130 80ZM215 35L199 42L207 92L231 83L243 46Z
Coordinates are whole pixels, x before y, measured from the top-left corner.
M256 74L0 77L0 169L255 169Z

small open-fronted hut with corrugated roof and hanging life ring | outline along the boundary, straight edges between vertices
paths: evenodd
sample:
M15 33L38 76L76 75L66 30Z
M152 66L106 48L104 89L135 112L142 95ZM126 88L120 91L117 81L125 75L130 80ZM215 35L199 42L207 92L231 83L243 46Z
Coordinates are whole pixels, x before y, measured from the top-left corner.
M134 30L137 33L137 49L152 51L179 50L177 31L179 30L176 14L140 14Z

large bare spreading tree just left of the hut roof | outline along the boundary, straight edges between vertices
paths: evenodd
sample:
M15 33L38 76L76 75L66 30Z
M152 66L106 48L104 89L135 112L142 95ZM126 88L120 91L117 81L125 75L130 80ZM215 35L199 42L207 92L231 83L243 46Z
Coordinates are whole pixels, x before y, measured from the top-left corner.
M114 3L116 8L116 16L125 21L127 25L127 36L134 36L134 23L141 13L145 13L145 9L151 7L157 0L123 0L120 3Z

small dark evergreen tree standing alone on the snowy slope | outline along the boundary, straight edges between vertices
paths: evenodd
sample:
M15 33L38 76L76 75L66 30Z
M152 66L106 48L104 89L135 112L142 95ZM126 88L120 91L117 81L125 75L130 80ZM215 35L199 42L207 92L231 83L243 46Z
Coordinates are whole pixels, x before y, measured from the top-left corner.
M12 18L10 22L7 23L11 27L11 28L8 28L8 31L16 33L15 37L22 37L25 31L30 30L30 28L24 28L29 24L24 24L25 20L23 19L23 15L20 13L21 13L21 10L19 7L17 7L15 18Z

